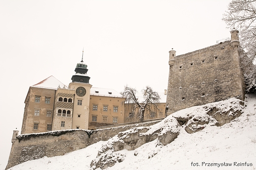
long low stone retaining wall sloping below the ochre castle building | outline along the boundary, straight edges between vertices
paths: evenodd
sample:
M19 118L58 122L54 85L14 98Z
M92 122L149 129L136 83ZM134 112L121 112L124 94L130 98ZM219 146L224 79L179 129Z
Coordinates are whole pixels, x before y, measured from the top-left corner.
M107 141L119 132L132 127L151 126L158 122L160 121L98 130L72 129L19 135L12 140L6 170L23 162L43 158L44 156L61 156L99 141Z

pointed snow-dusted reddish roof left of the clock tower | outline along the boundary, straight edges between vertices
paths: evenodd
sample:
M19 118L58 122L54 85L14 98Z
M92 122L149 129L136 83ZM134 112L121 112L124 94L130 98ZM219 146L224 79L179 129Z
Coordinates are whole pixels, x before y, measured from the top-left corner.
M66 85L64 85L62 82L60 82L57 78L54 76L50 76L43 81L32 85L31 87L37 87L37 88L45 88L45 89L54 89L57 90L58 87L61 88L68 88Z

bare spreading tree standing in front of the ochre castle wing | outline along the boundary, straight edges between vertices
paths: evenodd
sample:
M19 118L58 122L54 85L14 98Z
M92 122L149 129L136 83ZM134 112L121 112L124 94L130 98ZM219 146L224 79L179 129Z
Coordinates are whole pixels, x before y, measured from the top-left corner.
M148 110L149 113L159 110L156 103L159 103L160 96L157 92L154 92L153 89L149 86L146 89L143 89L141 93L143 94L142 101L139 100L139 97L136 96L138 91L136 89L125 86L124 91L121 92L123 97L126 97L124 103L131 105L131 113L137 114L139 121L144 120L144 114ZM131 115L134 116L134 115Z

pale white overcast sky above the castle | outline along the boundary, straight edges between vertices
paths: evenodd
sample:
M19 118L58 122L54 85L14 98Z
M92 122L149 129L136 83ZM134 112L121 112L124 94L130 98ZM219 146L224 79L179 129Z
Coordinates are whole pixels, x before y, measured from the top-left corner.
M53 75L71 82L84 48L93 87L167 89L176 55L230 37L231 0L0 0L0 169L21 130L29 87Z

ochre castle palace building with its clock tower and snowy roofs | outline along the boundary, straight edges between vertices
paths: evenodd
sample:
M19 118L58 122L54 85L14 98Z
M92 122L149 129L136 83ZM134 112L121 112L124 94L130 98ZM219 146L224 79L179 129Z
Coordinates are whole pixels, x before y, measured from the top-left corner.
M129 107L125 98L113 89L92 87L87 75L87 65L77 63L72 82L68 87L50 76L29 88L25 99L25 109L21 134L54 130L85 129L128 123ZM158 103L163 113L166 95ZM153 113L151 113L153 115ZM154 112L145 120L164 118Z

